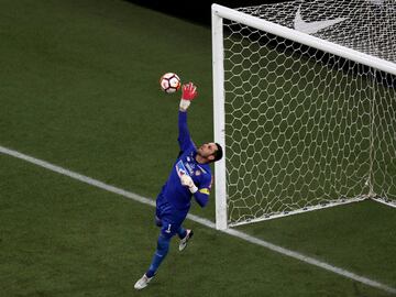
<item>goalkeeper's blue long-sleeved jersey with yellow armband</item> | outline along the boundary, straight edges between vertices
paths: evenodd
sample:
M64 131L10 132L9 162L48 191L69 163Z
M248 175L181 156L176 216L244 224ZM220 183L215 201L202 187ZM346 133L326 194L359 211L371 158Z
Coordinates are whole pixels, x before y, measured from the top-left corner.
M199 164L196 161L197 147L188 131L187 112L183 111L178 112L178 143L179 156L157 199L166 199L176 209L188 212L193 196L201 207L207 205L211 188L211 169L209 164ZM194 195L188 187L182 185L183 174L189 175L198 187Z

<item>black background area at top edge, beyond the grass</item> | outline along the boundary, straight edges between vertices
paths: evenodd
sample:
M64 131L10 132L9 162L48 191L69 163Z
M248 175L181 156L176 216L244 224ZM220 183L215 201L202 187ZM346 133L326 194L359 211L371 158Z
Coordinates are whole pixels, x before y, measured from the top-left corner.
M217 3L229 8L252 7L266 3L284 2L282 0L218 0L218 1L172 1L172 0L127 0L129 2L157 10L177 18L210 25L211 4Z

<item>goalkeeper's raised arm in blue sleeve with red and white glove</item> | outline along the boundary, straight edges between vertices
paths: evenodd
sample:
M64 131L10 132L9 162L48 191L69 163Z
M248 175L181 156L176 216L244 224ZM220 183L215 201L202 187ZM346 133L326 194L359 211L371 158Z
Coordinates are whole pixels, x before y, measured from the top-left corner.
M182 100L180 100L179 113L178 113L179 134L177 139L182 151L186 151L188 147L194 146L187 125L187 109L197 95L198 95L197 87L194 86L193 82L183 85Z

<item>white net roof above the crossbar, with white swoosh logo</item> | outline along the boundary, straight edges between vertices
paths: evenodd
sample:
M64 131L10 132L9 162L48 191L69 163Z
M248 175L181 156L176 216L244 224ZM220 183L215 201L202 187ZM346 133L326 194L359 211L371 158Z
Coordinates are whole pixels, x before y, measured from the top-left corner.
M302 0L238 10L396 62L395 0Z

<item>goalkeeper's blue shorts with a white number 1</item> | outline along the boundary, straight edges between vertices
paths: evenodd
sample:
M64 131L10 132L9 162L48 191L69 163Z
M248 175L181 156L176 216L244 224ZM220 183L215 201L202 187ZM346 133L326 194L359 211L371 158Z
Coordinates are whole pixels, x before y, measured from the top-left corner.
M161 233L166 238L172 238L177 233L184 220L187 217L187 211L180 211L167 202L163 197L158 197L155 208L155 221L161 227Z

